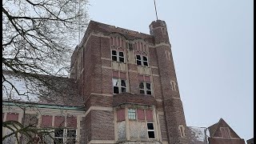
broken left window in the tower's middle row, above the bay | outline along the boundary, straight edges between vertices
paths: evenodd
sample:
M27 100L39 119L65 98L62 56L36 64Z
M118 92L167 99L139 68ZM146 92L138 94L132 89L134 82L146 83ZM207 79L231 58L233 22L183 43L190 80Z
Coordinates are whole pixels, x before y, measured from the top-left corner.
M112 78L113 94L127 92L126 80L121 78Z

